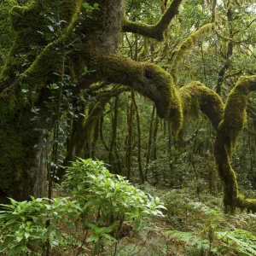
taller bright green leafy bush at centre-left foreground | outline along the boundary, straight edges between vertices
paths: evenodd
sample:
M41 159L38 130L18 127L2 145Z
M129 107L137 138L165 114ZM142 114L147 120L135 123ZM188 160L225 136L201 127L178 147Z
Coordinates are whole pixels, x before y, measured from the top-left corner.
M119 236L124 221L137 230L143 217L163 216L160 209L166 209L158 197L146 195L125 177L111 174L99 160L73 162L67 169L65 184L83 207L84 224L92 233L88 241L95 242L95 253L102 241L113 241L113 236ZM88 223L92 215L96 215L93 225Z

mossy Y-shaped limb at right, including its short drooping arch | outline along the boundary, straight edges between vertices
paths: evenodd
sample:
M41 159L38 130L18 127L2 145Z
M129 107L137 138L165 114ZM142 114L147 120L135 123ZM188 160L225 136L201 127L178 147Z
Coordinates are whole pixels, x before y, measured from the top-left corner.
M253 90L256 90L256 76L242 77L231 90L225 105L216 92L199 82L178 90L183 106L183 124L186 125L188 119L197 117L201 110L217 131L214 155L219 177L224 183L225 212L235 212L236 207L256 212L256 199L245 199L243 195L239 195L236 172L231 166L236 139L247 120L247 96Z

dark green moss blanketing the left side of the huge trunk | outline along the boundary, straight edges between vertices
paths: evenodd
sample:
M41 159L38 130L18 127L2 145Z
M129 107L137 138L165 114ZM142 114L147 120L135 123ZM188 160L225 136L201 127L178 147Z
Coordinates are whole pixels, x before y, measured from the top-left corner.
M40 169L40 150L34 148L42 135L34 129L47 129L47 124L43 120L42 123L31 121L31 106L27 107L21 90L28 90L26 96L31 103L44 100L45 84L54 82L52 72L57 73L61 68L63 52L61 47L56 48L66 40L64 34L55 44L48 44L53 36L48 26L54 26L49 18L57 20L60 15L61 20L67 21L62 24L65 30L79 6L79 0L44 0L43 3L34 0L27 7L11 9L15 43L0 75L0 190L22 200L37 195L33 189L37 176L44 170Z

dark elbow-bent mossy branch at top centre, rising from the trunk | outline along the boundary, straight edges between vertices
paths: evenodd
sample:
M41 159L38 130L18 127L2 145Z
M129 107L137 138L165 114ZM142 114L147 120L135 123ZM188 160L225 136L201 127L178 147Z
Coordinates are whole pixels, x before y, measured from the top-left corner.
M164 32L166 31L166 28L169 26L175 15L178 14L178 8L181 3L182 0L172 0L169 8L166 9L166 12L160 18L160 21L155 25L147 25L125 19L122 27L123 32L138 33L144 37L154 38L161 41L164 38Z

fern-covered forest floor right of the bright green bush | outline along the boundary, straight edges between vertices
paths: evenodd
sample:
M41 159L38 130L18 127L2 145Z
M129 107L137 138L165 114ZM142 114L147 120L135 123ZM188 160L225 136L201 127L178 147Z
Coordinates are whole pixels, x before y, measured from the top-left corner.
M256 255L256 214L224 214L222 195L191 193L190 189L142 188L164 201L163 218L147 218L135 232L124 224L122 237L104 247L105 256L208 256ZM81 237L88 234L77 233ZM89 249L89 250L87 250ZM54 255L93 255L90 249L55 252Z

